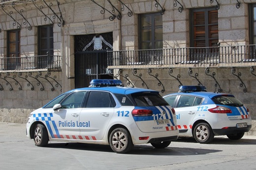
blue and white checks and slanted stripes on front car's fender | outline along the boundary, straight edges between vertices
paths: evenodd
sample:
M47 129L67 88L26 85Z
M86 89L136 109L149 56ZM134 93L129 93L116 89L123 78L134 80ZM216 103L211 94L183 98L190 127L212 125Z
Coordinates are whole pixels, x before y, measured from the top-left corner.
M58 130L57 126L56 126L56 123L55 123L54 120L52 120L53 113L35 113L35 114L33 114L33 117L35 118L36 121L44 121L46 126L47 126L48 131L51 134L51 137L55 138L53 130L51 128L51 123L52 123L52 125L54 127L54 131L55 131L57 137L61 138L59 130Z

